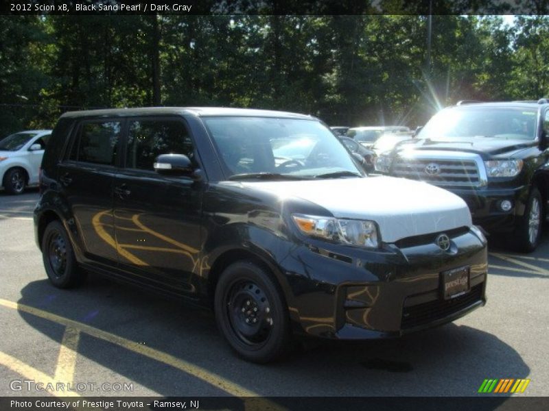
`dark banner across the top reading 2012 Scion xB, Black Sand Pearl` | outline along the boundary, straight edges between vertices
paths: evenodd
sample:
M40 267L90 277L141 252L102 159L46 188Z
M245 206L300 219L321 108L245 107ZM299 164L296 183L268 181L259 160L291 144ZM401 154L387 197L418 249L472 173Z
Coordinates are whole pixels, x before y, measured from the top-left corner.
M0 14L549 14L549 0L6 0Z

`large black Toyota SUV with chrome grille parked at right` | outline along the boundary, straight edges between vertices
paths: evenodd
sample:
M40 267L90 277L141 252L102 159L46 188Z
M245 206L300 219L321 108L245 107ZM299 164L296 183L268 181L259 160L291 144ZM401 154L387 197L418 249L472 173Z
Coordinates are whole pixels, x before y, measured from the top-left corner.
M460 102L417 138L377 158L377 171L419 179L463 198L474 223L533 251L547 215L549 103Z

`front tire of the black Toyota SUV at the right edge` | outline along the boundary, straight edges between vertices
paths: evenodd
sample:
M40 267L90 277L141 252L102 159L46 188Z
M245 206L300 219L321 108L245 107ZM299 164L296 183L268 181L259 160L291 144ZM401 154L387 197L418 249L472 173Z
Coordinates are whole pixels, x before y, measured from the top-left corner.
M528 195L524 216L522 216L510 238L511 246L517 251L529 253L539 244L543 225L544 209L539 190L533 187Z

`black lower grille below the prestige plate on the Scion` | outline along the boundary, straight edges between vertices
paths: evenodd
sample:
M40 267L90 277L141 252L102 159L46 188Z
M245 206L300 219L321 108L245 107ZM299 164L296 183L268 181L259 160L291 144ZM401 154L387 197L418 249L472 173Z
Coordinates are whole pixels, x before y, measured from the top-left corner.
M402 310L401 329L410 329L428 325L432 321L443 319L482 300L482 285L480 283L464 295L454 299L436 299L417 306L404 307Z

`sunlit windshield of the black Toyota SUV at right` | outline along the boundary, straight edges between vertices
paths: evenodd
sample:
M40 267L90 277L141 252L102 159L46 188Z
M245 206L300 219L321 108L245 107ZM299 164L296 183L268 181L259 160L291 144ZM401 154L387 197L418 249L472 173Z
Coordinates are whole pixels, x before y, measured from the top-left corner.
M435 114L419 138L486 137L500 140L533 140L537 110L524 108L459 107Z

